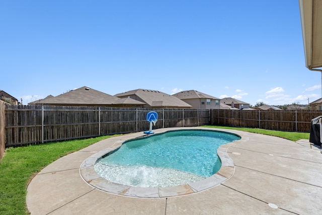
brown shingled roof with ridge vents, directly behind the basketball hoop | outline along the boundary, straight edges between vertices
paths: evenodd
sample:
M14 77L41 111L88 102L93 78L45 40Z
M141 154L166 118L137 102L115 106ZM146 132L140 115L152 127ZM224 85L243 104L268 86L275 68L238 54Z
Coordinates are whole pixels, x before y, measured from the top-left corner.
M191 105L182 101L181 99L171 96L169 94L156 91L156 90L145 90L145 89L137 89L131 90L125 93L119 93L114 96L119 98L129 97L144 102L150 107L160 108L160 107L172 107L172 108L190 108Z

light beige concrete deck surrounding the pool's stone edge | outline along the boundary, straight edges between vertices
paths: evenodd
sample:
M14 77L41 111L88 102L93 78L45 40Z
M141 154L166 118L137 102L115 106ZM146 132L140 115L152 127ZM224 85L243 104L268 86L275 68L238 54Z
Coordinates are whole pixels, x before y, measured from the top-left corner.
M164 132L169 129L157 129ZM175 128L182 129L182 128ZM198 127L200 129L200 127ZM163 198L111 194L81 177L82 163L115 142L143 132L102 140L45 167L27 188L33 214L322 214L322 154L307 140L236 130L228 144L232 176L204 191Z

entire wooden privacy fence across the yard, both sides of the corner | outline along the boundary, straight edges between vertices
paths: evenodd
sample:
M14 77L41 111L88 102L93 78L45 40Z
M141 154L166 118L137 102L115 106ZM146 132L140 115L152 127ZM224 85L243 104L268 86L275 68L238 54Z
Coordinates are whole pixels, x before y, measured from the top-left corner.
M269 130L309 132L312 118L321 111L245 111L222 109L148 109L111 107L3 105L0 116L5 147L48 141L87 138L149 129L146 114L153 110L158 121L153 129L224 125ZM2 114L4 112L4 114ZM2 114L2 115L1 115ZM1 128L1 122L0 122ZM0 129L1 132L1 129Z

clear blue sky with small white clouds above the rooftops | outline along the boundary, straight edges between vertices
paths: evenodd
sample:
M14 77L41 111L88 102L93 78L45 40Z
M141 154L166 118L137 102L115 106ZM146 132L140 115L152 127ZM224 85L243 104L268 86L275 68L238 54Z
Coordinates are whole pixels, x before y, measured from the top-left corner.
M294 0L4 0L0 28L0 90L23 104L83 86L251 105L321 97Z

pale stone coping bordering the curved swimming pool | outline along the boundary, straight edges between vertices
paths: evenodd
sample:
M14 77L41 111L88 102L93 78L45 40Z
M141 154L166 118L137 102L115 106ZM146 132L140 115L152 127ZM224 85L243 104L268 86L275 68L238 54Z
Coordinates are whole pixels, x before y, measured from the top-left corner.
M139 137L135 137L135 138L129 137L128 139L118 140L114 142L114 144L111 147L90 156L82 163L81 167L79 168L79 173L81 174L83 180L94 188L97 188L105 192L113 193L116 195L129 196L129 197L141 197L141 198L166 198L166 197L193 194L193 193L210 189L228 180L233 175L235 171L235 166L232 159L227 154L227 149L231 146L235 146L237 144L240 144L241 142L246 141L247 138L235 132L221 131L213 128L181 127L181 128L173 128L170 130L174 131L174 130L183 130L183 129L212 130L212 131L231 133L231 134L240 136L240 139L224 144L218 148L217 155L221 160L221 168L217 173L205 179L195 181L193 183L184 184L184 185L179 185L174 187L154 187L154 188L132 187L129 185L123 185L123 184L118 184L118 183L109 181L107 179L102 178L100 175L98 175L98 173L94 169L94 164L98 159L100 159L102 156L106 155L107 153L110 153L118 149L127 140L151 135L151 134L144 134L143 132L142 132L142 135ZM169 129L166 131L154 130L155 131L154 134L165 133L170 130Z

